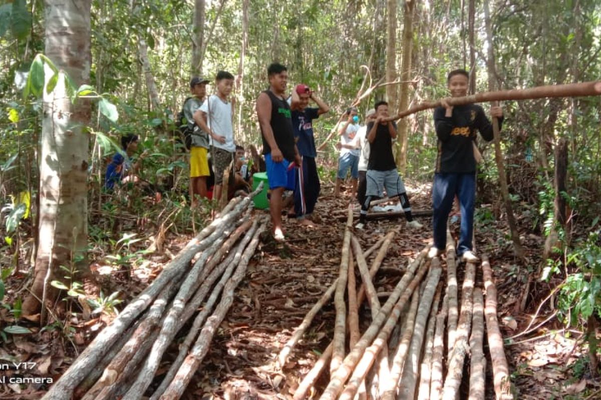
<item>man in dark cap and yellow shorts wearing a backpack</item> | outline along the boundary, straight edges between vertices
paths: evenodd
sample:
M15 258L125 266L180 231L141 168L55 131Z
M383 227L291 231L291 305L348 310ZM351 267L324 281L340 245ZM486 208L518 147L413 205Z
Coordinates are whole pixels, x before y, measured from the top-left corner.
M208 79L193 77L190 80L190 91L192 97L186 99L183 110L188 128L192 130L192 143L190 146L190 194L192 197L192 206L197 204L196 195L201 199L207 197L207 176L209 172L209 161L207 151L209 150L209 135L201 130L194 121L194 113L203 105L204 97L207 94Z

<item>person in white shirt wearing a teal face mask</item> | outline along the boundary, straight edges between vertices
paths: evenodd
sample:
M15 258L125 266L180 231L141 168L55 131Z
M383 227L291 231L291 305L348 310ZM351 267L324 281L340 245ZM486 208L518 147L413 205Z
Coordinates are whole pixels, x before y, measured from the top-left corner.
M338 175L336 186L334 188L334 197L340 194L340 186L350 170L350 181L352 196L357 192L357 179L359 178L359 149L355 145L355 136L359 130L359 116L357 109L352 107L346 110L344 114L346 121L338 125L338 134L340 135L340 156L338 157Z

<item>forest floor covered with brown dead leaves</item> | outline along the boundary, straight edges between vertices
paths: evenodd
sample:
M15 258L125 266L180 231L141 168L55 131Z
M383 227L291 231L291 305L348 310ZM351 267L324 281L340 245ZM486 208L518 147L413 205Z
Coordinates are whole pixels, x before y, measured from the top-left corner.
M430 209L430 185L412 182L406 184L413 209ZM344 210L350 200L350 196L334 199L332 188L326 186L322 189L322 197L315 213L319 226L299 227L296 221L284 217L287 230L285 243L275 244L269 240L262 243L249 264L246 279L236 291L234 305L213 338L210 351L183 398L290 398L299 381L332 339L335 315L333 303L328 303L317 314L281 371L274 367L273 362L294 328L337 278L346 215ZM523 312L519 310L527 276L538 269L543 247L542 237L528 231L532 225L531 217L528 213L523 213L517 218L528 263L528 266L518 266L511 243L507 240L508 230L504 218L495 218L492 208L486 205L478 208L475 244L479 253L489 254L495 274L499 292L499 323L506 339L505 354L510 365L511 379L516 387L516 398L601 398L598 392L601 381L593 380L588 370L582 332L564 330L557 318L550 318L538 326L554 312L547 301L536 314L539 305L554 288L554 282L533 281L525 309ZM355 232L365 250L389 230L400 226L400 232L395 235L382 267L374 278L377 291L392 290L409 259L415 258L431 240L431 218L417 219L424 228L409 230L401 216L370 220L367 229ZM136 225L139 226L139 221ZM450 227L456 236L459 222L451 222ZM120 227L120 230L124 230L124 227ZM99 275L106 296L120 291L128 293L128 298L124 299L127 301L143 290L148 279L155 276L160 271L160 266L177 254L189 239L189 235L166 233L162 251L144 255L145 261L131 271L130 279L124 279L126 273L123 270L115 270L114 266L103 264L100 261L102 254L96 254L98 261L93 264L93 270ZM149 243L149 240L132 243L130 251L147 247ZM7 259L4 258L4 261ZM463 267L465 264L460 263L460 277ZM7 293L13 297L18 293L22 295L23 286L23 275L16 273L8 279ZM121 308L121 305L117 308ZM0 318L6 325L11 320L10 310L2 309L1 313ZM362 307L361 314L362 320L370 319L367 306ZM22 321L20 324L28 327L33 334L14 334L2 339L0 362L35 362L35 368L28 371L28 375L56 379L110 319L109 315L103 314L85 320L81 313L76 312L67 326L55 324L56 326L43 329L29 321ZM535 329L520 335L529 326ZM186 327L183 330L185 329ZM68 334L61 334L61 330ZM510 339L512 336L516 337ZM486 342L484 345L486 348ZM172 344L171 350L166 354L157 375L166 372L170 357L177 354L177 345ZM486 370L487 398L493 399L490 370L489 359ZM0 374L13 372L0 371ZM327 383L326 379L323 376L320 378L316 393L321 392ZM4 383L0 377L2 399L38 399L45 389L46 386L40 384L19 386Z

